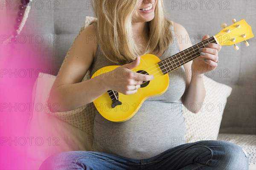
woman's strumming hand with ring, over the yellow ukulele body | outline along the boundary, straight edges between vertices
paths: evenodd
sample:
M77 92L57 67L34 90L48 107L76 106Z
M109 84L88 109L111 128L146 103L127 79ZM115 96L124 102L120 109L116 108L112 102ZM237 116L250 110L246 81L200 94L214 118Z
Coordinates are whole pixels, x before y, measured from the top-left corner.
M143 81L150 81L154 78L153 75L140 74L131 69L137 67L140 64L140 57L129 64L117 67L113 71L108 73L108 76L104 76L104 84L108 90L120 92L125 95L135 94L140 88Z

